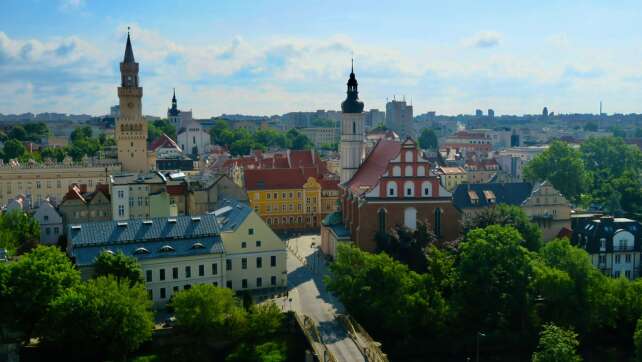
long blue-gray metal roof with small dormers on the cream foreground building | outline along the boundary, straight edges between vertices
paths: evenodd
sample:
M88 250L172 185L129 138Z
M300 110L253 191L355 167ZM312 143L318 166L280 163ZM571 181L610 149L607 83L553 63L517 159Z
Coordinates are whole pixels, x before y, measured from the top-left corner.
M92 265L104 252L123 252L139 260L223 253L214 215L104 221L70 225L71 256Z

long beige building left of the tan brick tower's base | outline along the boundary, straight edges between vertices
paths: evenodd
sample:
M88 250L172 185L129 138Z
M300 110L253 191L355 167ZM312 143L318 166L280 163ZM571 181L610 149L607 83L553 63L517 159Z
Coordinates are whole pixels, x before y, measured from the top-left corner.
M34 204L46 198L60 202L73 184L87 185L93 191L99 183L109 183L109 175L120 172L115 160L73 163L11 162L0 166L0 204L17 195L30 195Z

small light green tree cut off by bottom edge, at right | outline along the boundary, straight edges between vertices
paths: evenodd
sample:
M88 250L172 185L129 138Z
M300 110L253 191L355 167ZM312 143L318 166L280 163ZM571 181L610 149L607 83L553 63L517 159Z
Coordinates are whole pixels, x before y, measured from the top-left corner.
M537 351L533 353L533 362L580 362L577 354L577 334L572 330L547 324L540 333Z

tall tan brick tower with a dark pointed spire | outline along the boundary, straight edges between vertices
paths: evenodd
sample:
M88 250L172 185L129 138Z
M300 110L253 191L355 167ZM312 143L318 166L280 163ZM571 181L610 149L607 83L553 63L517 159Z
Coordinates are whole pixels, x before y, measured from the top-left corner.
M147 121L143 118L143 88L138 84L138 63L127 32L125 57L120 63L120 116L116 121L118 161L127 172L147 172Z

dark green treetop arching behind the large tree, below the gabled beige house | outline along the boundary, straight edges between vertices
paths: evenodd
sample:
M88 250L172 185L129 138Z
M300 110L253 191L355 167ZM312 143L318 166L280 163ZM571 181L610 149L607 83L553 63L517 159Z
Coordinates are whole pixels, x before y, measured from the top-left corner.
M542 230L520 207L500 204L489 207L466 221L465 228L485 228L489 225L513 226L523 238L522 246L531 251L539 250L542 243Z

